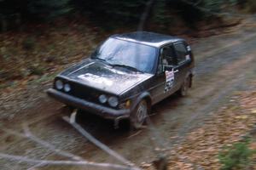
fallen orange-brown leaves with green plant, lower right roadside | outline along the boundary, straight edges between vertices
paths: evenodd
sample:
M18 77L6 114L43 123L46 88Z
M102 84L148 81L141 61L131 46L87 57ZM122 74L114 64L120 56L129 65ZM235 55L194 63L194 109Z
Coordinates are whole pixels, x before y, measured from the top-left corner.
M168 169L242 170L256 167L256 83L239 91L170 152ZM154 164L144 163L147 170Z

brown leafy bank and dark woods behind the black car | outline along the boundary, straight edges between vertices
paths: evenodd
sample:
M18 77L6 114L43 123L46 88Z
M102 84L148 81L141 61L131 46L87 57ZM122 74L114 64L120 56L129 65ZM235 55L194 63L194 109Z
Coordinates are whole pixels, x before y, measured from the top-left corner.
M212 28L239 24L240 19L227 20L227 15L254 10L251 0L1 0L0 90L47 80L113 33L140 27L188 39L205 37L217 33Z

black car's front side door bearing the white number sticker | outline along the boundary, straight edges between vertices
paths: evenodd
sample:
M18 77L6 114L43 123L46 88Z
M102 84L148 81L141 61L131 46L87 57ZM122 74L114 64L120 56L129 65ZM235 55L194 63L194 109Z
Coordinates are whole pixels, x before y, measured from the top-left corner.
M154 76L153 103L165 99L176 91L177 61L172 43L160 48L157 72Z

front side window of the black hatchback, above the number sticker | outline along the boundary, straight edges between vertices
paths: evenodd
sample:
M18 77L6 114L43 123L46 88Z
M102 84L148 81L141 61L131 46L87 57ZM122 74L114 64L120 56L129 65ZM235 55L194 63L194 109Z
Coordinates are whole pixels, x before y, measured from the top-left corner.
M165 71L165 66L176 65L175 52L172 45L160 48L160 62L158 65L158 73Z

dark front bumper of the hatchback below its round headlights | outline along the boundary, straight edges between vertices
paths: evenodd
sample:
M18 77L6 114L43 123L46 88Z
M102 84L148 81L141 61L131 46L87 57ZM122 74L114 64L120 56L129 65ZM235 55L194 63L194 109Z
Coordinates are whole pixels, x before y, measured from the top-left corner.
M50 97L61 101L64 104L74 106L76 108L82 109L84 111L89 111L98 116L102 116L107 119L117 119L117 118L128 118L130 116L130 110L115 110L106 106L98 105L90 101L79 99L73 97L69 94L64 94L54 88L49 88L47 94Z

